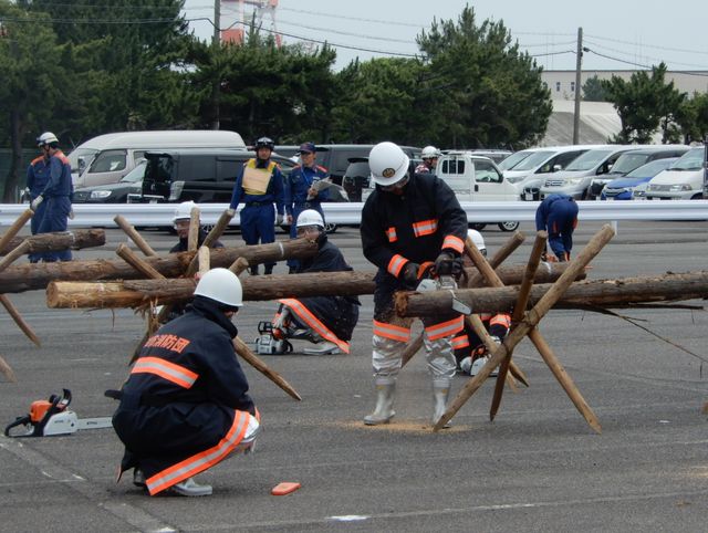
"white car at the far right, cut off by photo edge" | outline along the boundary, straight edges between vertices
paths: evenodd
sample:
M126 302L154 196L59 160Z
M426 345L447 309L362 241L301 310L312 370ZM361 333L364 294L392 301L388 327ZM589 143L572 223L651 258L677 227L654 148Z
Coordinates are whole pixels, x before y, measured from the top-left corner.
M646 188L647 200L699 200L704 197L706 148L691 148L674 165L657 174Z

